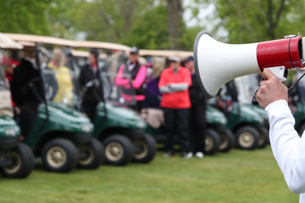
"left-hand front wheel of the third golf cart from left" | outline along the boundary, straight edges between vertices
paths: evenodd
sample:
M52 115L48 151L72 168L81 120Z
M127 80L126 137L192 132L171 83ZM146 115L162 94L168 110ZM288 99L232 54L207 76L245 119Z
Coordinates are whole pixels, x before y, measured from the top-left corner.
M133 145L124 135L109 135L104 141L105 163L125 166L133 156Z

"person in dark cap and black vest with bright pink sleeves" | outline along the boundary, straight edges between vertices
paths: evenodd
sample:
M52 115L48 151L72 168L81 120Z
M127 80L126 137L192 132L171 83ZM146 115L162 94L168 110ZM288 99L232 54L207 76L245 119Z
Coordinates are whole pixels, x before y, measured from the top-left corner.
M131 85L135 89L136 104L131 107L138 112L145 107L145 89L144 82L146 79L146 66L141 65L138 61L139 49L132 47L128 55L127 64L122 64L119 68L118 75L115 79L117 86L124 86L126 89L131 89L129 84L130 79L124 77L124 74L131 74Z

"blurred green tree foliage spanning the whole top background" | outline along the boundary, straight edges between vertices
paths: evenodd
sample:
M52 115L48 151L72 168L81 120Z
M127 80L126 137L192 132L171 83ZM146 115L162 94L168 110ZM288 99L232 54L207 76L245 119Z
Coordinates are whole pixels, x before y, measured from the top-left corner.
M305 2L297 0L6 0L0 32L106 41L145 49L192 51L196 35L225 30L223 42L245 44L305 33ZM213 15L200 19L204 6ZM192 9L198 25L182 19ZM204 24L204 25L203 25ZM204 28L204 29L203 29ZM209 28L209 30L206 30ZM80 33L82 35L80 35ZM216 36L215 36L216 37Z

